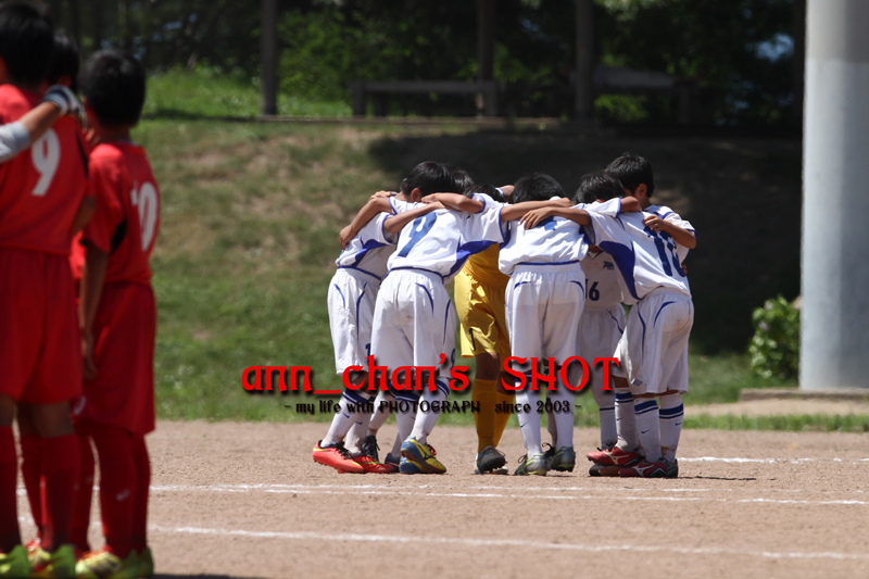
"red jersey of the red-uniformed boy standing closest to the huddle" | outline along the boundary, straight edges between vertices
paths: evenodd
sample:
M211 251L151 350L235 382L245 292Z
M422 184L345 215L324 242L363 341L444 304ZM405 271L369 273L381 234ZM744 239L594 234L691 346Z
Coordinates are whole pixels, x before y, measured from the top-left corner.
M126 141L98 144L90 153L90 184L97 213L84 240L110 254L104 282L150 284L160 190L144 149Z

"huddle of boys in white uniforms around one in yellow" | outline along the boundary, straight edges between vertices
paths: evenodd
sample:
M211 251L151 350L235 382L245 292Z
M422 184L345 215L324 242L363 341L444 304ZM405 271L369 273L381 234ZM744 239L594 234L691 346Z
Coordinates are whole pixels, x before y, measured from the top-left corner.
M648 161L626 153L584 175L570 200L549 175L496 188L434 162L414 167L400 192L371 197L340 234L343 251L329 284L336 369L365 368L368 354L390 372L438 366L441 354L448 361L437 388L377 392L374 413L363 410L375 392L347 388L314 461L341 473L446 470L428 439L455 357L455 312L444 288L455 278L462 355L476 358L476 473L506 474L498 444L511 414L495 408L514 403L503 383L515 378L502 374L501 361L553 358L561 376L559 366L580 356L590 366L596 357L618 360L610 383L600 367L589 376L601 419L601 448L587 455L590 474L677 477L694 318L682 262L696 240L689 222L652 204L654 190ZM627 319L622 304L631 305ZM564 373L571 385L581 381L580 368ZM572 471L575 392L561 377L555 390L543 382L551 401L543 407L554 412L551 443L542 443L540 392L526 369L515 403L531 408L517 413L527 453L515 474ZM358 373L351 383L366 379ZM395 401L419 404L381 404ZM398 408L399 433L380 462L376 436L390 407Z

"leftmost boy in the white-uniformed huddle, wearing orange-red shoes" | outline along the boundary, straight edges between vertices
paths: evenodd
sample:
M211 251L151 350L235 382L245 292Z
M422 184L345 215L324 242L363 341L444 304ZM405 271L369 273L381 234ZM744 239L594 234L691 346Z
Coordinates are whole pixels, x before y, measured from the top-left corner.
M350 366L366 367L370 353L371 322L380 281L387 273L387 261L395 249L398 235L385 230L388 217L402 213L402 221L392 227L410 223L419 215L433 211L433 206L415 205L424 194L453 187L450 171L432 162L420 163L402 180L402 191L395 199L385 199L383 207L369 201L348 228L349 240L343 241L343 251L336 260L338 270L329 282L329 326L335 345L336 372L342 376ZM371 206L388 213L371 211ZM368 217L367 222L362 219ZM375 218L370 218L374 216ZM352 383L364 383L367 373L351 375ZM362 449L354 449L351 456L343 440L354 425L364 432L368 428L369 413L357 412L360 405L369 402L373 393L365 389L345 389L341 395L340 412L336 413L326 437L313 451L314 462L331 466L342 473L394 473L398 461L379 463L377 440L374 435L365 437ZM386 419L386 416L382 416ZM377 426L379 428L380 425ZM360 452L361 451L361 452Z

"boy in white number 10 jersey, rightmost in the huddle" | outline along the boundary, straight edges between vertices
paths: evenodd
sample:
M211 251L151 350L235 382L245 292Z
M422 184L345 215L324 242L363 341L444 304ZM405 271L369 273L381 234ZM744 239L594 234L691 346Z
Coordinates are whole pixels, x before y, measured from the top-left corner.
M696 246L694 228L669 209L652 205L648 197L654 178L645 159L625 154L610 163L607 173L640 201L643 213L618 219L592 215L595 242L616 260L637 304L616 351L616 374L621 375L616 379L616 395L622 394L616 404L617 413L622 406L617 421L619 441L612 450L588 457L620 467L618 476L675 478L679 474L676 449L683 416L681 394L688 392L688 338L694 320L681 263ZM629 404L632 415L624 412Z

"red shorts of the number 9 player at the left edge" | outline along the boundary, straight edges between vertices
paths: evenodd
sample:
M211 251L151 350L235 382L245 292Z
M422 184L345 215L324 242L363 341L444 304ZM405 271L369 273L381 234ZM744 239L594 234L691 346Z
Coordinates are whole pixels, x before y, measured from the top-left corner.
M0 248L0 394L51 404L81 392L70 259Z

